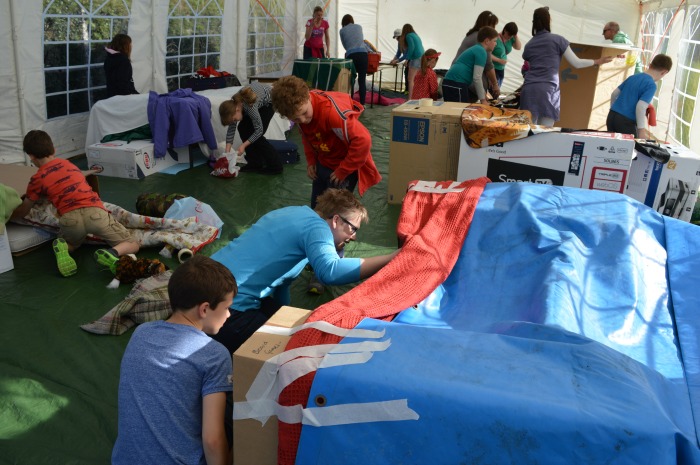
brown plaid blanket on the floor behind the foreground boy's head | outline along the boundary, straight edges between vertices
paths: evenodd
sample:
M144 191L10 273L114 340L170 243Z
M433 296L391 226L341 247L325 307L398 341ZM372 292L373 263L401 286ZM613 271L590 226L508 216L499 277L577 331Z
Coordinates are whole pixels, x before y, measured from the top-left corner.
M168 318L173 312L168 299L171 275L168 270L137 281L129 295L102 318L80 327L89 333L119 336L137 324Z

